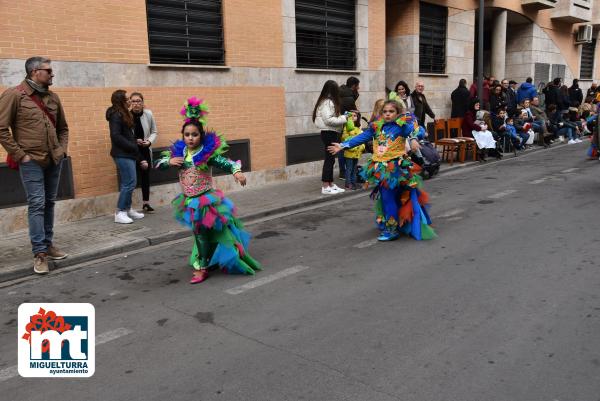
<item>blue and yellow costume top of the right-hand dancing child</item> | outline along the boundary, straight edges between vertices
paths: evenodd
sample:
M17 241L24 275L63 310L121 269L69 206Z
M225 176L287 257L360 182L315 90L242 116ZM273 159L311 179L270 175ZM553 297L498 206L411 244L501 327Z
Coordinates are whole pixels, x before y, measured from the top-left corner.
M409 172L412 163L405 159L407 138L423 138L423 131L411 113L388 123L383 119L374 121L361 134L340 145L348 149L373 140L373 156L364 171L364 178L371 184L393 189L400 185L413 185Z

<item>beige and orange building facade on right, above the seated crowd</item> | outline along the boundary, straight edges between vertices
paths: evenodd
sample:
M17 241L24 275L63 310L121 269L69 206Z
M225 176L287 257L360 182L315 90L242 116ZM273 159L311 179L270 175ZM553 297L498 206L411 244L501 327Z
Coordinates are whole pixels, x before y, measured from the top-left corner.
M508 25L506 40L506 78L523 82L534 75L535 63L565 65L565 80L569 83L579 76L581 46L575 44L577 25L553 19L563 12L562 3L580 0L559 0L560 7L548 10L524 8L519 0L487 0L485 6L493 11L509 10L525 17L529 22ZM446 73L419 73L419 0L386 3L386 86L390 89L404 80L414 87L417 80L425 83L427 99L436 116L450 115L450 93L460 78L469 84L473 80L475 54L476 0L426 0L427 3L448 7L446 40ZM592 6L600 8L597 0ZM570 4L570 3L569 3ZM557 11L558 10L558 11ZM596 11L600 26L600 12ZM591 14L590 14L591 15ZM489 23L489 22L488 22ZM596 28L597 29L597 28ZM595 33L596 36L597 32ZM597 44L600 48L600 44ZM486 64L490 64L486 60ZM595 63L594 78L600 77L600 63ZM498 79L503 77L496 77ZM587 88L591 81L581 82Z

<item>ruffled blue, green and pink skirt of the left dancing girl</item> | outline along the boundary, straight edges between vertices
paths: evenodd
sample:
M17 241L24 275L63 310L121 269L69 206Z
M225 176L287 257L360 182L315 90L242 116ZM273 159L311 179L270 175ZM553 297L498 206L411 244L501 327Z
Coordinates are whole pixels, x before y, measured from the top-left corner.
M227 273L254 274L260 264L248 253L250 234L235 217L235 206L220 190L179 194L171 202L175 219L194 232L190 265L219 266Z

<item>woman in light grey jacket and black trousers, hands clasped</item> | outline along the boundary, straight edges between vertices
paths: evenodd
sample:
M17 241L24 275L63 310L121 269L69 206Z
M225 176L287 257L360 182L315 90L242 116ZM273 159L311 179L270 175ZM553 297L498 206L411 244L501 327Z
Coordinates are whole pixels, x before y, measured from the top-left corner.
M144 96L139 92L133 92L129 96L131 104L131 113L133 114L133 130L135 132L135 138L137 140L138 148L143 160L148 162L148 165L152 165L152 144L158 137L156 129L156 121L152 111L144 107ZM150 213L154 211L154 208L150 206L150 170L151 169L138 169L140 177L140 183L142 186L142 201L144 212Z

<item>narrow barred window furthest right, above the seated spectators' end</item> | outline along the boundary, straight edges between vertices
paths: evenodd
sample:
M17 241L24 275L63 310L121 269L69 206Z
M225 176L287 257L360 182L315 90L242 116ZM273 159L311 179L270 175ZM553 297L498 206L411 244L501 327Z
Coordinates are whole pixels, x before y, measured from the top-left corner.
M446 72L446 28L448 9L420 3L419 10L419 72Z

